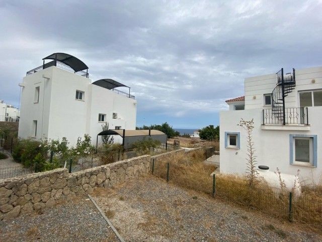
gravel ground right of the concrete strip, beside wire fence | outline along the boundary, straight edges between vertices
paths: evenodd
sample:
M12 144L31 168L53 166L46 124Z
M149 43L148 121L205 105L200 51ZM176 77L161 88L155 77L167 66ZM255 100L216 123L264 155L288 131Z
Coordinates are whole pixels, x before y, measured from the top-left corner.
M322 241L279 221L154 176L92 195L126 241Z

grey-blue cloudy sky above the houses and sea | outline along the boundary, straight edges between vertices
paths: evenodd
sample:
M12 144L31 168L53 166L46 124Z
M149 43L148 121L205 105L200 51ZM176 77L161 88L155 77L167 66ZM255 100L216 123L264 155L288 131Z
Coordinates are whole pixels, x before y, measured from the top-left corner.
M131 87L137 125L219 123L244 78L322 66L322 1L0 0L0 99L53 52Z

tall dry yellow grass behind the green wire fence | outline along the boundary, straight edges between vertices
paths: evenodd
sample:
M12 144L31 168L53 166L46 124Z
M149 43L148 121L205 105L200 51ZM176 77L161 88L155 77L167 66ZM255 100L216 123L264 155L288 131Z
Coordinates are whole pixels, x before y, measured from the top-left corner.
M204 150L177 153L154 163L154 174L167 179L169 163L169 181L181 187L201 191L206 194L213 192L214 165L206 165ZM215 195L234 203L260 210L281 219L288 219L289 194L274 192L266 183L250 188L246 177L218 174L215 177ZM303 189L302 195L293 198L292 220L322 229L322 187ZM283 237L283 236L281 236Z

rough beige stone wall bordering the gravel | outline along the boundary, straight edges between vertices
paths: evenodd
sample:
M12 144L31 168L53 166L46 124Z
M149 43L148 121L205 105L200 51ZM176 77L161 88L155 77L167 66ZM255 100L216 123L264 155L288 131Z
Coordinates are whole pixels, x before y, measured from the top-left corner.
M59 168L0 179L0 220L51 207L94 187L111 187L150 172L150 156L102 165L74 173Z

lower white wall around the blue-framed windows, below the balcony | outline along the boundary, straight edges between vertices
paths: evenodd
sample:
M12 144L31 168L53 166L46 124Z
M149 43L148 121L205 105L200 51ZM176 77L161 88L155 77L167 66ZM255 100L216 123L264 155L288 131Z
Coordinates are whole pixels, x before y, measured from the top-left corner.
M254 118L255 128L253 141L255 143L258 165L268 165L270 170L279 167L282 173L296 174L300 169L300 178L311 183L312 177L318 183L322 177L322 154L319 152L322 144L322 107L309 107L308 117L310 131L262 130L262 109L222 111L220 112L220 172L245 174L246 172L246 131L237 126L240 118ZM240 132L240 149L225 148L224 132ZM317 135L317 167L291 165L289 158L290 134Z

